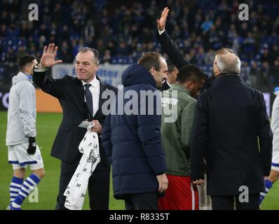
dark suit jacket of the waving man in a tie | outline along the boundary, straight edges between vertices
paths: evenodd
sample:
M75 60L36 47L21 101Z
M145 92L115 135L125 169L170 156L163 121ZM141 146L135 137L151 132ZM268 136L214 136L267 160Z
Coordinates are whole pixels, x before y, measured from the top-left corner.
M100 80L98 77L97 79ZM56 97L63 110L62 123L56 135L51 155L63 162L72 163L81 156L81 153L79 153L79 143L83 139L84 134L86 134L86 129L78 127L78 125L88 118L83 110L84 88L82 82L72 76L64 76L61 79L48 78L45 72L36 71L34 71L33 80L44 92ZM105 90L116 92L117 89L100 81L99 109L95 113L93 120L99 120L101 125L105 119L102 113L102 104L106 100L102 99L102 92ZM104 148L102 148L101 141L100 156L101 162L97 168L109 169L109 162L107 161Z

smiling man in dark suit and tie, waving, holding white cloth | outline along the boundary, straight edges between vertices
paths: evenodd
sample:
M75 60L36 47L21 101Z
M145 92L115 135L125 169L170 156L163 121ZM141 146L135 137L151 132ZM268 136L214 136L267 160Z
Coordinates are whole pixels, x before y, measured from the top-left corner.
M110 166L104 148L101 146L100 133L105 116L102 113L102 93L116 88L104 84L96 76L99 65L99 53L92 48L83 48L76 55L76 78L64 76L53 79L46 76L46 70L61 63L55 60L57 46L54 43L43 48L43 55L38 66L34 67L34 83L44 92L56 97L63 110L62 123L55 138L51 155L61 160L59 195L55 209L65 209L64 191L79 165L81 153L79 144L86 134L86 129L78 127L88 119L88 113L93 117L95 124L92 131L99 134L101 162L90 176L88 193L90 209L109 209L109 172ZM84 102L88 104L88 111L84 110ZM90 117L90 116L89 116Z

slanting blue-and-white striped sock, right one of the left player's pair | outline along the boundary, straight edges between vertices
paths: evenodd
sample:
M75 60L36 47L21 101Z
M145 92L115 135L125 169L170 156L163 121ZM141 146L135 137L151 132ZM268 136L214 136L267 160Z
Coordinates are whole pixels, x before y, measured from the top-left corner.
M31 193L32 190L36 187L36 185L41 181L38 176L35 174L31 174L23 183L22 188L20 189L20 193L18 193L18 197L12 202L13 208L20 208L22 202L25 198Z

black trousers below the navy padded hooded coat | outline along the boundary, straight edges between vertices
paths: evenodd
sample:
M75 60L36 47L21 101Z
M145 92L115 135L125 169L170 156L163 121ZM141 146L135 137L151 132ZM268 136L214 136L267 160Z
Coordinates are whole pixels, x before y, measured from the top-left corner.
M125 195L126 210L158 210L158 193Z

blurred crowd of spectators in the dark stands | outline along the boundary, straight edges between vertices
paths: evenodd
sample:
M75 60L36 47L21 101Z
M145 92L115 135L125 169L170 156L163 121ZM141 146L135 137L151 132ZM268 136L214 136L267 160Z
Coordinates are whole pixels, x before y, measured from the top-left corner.
M28 20L29 3L38 4L38 21ZM248 21L238 19L240 3L245 1L1 0L0 63L16 62L25 52L39 58L43 45L53 42L64 63L88 45L100 51L101 63L130 64L141 52L161 52L156 19L168 6L168 34L191 63L212 73L215 50L229 47L243 61L248 84L279 83L279 2L247 1Z

